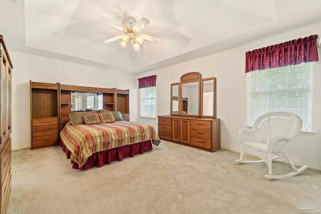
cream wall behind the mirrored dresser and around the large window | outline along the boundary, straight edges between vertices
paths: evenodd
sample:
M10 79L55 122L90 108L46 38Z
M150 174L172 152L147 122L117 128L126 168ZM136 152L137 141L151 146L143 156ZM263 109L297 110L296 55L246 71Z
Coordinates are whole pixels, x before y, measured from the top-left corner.
M200 72L203 78L216 77L217 118L221 118L221 147L239 151L238 130L246 128L247 125L245 52L315 34L321 35L321 25L253 42L168 68L145 72L137 75L137 78L157 75L156 111L157 115L162 115L170 114L171 84L179 82L183 74ZM321 50L318 51L319 57L321 57ZM302 133L295 141L287 144L286 150L296 163L306 163L314 168L319 168L321 150L321 92L319 87L321 82L321 62L313 64L312 129L315 133ZM157 128L157 119L140 118L139 122L150 124Z

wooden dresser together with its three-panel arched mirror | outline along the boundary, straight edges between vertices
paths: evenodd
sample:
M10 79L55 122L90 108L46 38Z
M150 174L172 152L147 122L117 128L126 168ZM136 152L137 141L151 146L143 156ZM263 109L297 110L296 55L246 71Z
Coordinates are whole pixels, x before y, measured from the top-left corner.
M216 117L216 78L198 72L171 84L171 115L158 116L159 138L214 152L220 149L220 119Z

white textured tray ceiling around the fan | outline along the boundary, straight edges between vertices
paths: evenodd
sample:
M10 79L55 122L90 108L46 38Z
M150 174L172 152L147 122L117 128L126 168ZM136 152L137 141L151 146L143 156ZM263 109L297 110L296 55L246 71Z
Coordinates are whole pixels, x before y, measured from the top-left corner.
M308 5L306 4L308 2ZM321 22L319 0L2 0L0 34L14 51L139 73ZM139 52L119 40L127 18L148 19ZM309 35L306 35L309 36ZM296 38L293 38L296 39Z

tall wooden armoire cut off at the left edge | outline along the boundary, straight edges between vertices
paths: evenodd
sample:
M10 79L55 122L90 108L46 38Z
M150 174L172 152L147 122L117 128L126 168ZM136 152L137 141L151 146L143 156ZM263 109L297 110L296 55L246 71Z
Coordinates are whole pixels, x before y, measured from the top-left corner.
M0 35L0 213L7 213L11 193L12 63Z

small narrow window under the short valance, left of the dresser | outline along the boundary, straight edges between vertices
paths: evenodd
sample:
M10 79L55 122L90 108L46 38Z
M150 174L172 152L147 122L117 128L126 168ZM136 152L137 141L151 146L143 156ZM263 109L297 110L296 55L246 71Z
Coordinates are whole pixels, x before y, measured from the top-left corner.
M141 117L156 117L156 87L140 88L140 116Z

